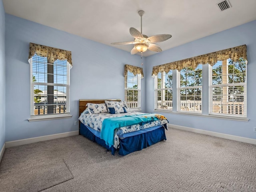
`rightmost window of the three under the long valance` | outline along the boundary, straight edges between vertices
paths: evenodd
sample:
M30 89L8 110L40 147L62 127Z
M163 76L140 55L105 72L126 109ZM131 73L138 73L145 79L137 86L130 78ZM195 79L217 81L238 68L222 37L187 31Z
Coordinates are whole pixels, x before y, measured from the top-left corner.
M246 118L246 60L209 68L209 114Z

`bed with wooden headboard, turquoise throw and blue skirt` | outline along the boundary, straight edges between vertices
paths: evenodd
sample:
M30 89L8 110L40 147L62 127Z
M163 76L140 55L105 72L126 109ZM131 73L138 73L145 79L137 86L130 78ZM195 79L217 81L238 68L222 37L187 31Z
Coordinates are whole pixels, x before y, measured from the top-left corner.
M98 114L88 112L92 108L87 107L87 104L88 106L95 104L98 107L98 105L103 106L105 101L119 102L122 106L120 99L79 100L79 134L110 150L112 155L118 151L121 156L166 140L165 130L168 130L168 120L160 114L133 112L127 110L127 106L121 107L124 108L123 112L115 114L110 114L112 108L109 107L107 107L108 112ZM106 103L107 106L109 102ZM130 125L129 121L133 121L134 118L138 122Z

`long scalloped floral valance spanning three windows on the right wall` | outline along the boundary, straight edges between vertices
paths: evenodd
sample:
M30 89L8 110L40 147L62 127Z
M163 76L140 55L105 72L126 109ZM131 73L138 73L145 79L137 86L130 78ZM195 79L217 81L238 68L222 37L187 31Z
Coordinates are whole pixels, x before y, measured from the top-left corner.
M198 66L198 64L208 63L211 66L213 66L214 64L216 64L217 61L223 61L229 58L234 62L237 62L241 57L247 60L246 45L241 45L238 47L233 47L184 60L154 66L152 70L152 76L154 77L159 72L168 73L170 70L174 69L180 71L182 68L185 67L192 67L193 69L195 69Z

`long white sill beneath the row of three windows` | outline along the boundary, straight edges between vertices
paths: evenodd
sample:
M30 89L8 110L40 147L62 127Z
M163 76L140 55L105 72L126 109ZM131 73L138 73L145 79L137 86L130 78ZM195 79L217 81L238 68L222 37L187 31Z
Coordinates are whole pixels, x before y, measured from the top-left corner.
M234 120L234 121L244 121L244 122L248 122L249 119L247 118L237 118L237 117L226 117L226 116L218 116L218 115L203 115L203 114L199 114L196 112L192 112L192 113L186 113L186 112L173 112L170 110L159 110L159 109L155 109L154 111L156 112L164 112L164 113L171 113L171 114L177 114L177 115L188 115L188 116L197 116L197 117L206 117L206 118L216 118L216 119L225 119L225 120Z

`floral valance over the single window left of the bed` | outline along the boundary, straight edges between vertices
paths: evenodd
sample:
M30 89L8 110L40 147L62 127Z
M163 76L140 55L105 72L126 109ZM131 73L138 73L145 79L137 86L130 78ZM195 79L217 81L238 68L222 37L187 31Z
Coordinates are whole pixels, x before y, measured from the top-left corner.
M72 66L71 51L30 43L28 59L32 58L34 54L41 57L47 57L48 63L54 63L57 59L67 60Z

